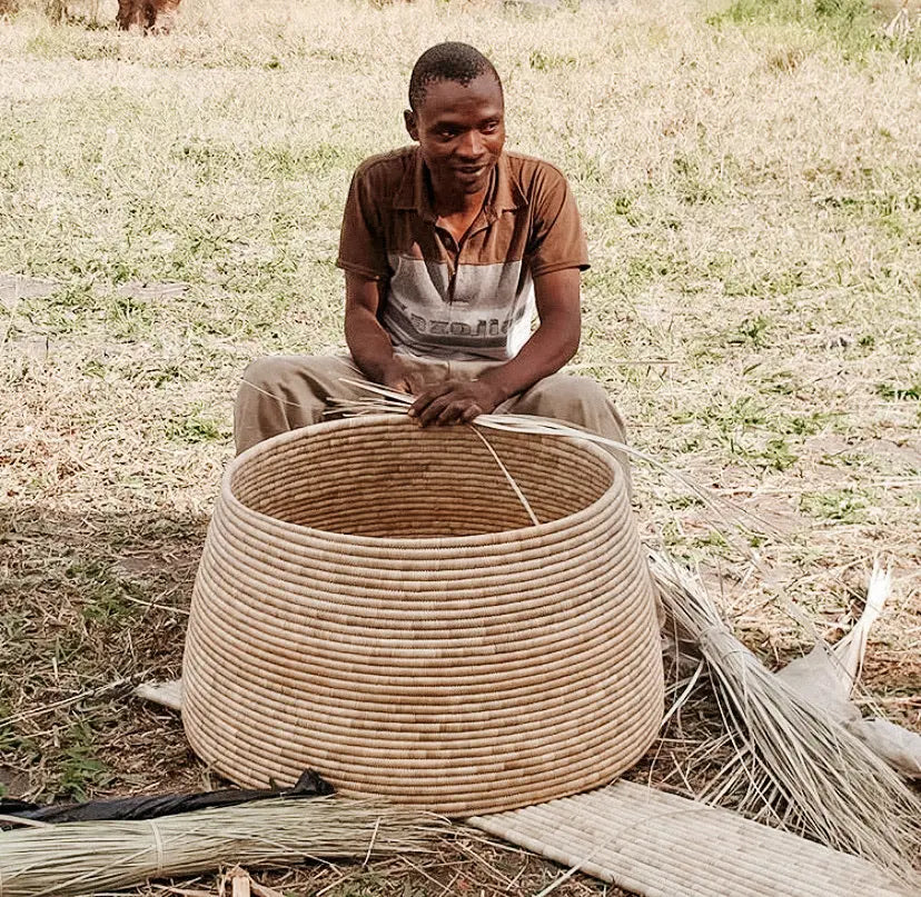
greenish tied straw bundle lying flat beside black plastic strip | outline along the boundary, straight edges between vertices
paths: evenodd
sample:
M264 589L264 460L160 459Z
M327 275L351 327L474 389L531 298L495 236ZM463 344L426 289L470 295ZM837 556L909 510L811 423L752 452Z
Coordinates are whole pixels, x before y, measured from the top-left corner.
M225 864L266 868L419 853L445 825L415 810L336 797L260 800L143 821L42 824L0 834L0 897L87 894Z

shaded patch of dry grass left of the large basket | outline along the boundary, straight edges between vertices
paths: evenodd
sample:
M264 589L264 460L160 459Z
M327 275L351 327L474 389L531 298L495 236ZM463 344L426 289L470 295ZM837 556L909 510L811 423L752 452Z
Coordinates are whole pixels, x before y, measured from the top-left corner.
M0 509L0 785L51 799L207 787L178 715L132 697L179 674L204 516Z

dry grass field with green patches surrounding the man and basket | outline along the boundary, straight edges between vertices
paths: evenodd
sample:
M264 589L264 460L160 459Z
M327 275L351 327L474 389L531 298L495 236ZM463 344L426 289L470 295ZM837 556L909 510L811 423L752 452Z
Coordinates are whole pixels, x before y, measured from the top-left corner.
M576 363L638 447L773 525L746 537L754 566L637 467L644 538L699 565L772 666L810 644L785 601L833 640L890 564L868 700L921 730L914 6L891 39L892 9L859 0L184 0L147 38L112 2L59 24L22 6L0 18L0 789L216 784L129 692L179 671L247 361L341 343L350 172L405 142L412 63L444 39L504 76L509 146L571 178L593 259ZM463 836L418 868L283 884L534 894L558 874Z

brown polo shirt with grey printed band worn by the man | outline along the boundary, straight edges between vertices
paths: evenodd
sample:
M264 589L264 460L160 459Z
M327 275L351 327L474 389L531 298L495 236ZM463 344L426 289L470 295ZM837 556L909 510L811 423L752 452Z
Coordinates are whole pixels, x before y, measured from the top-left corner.
M452 361L514 358L531 335L534 278L588 267L566 179L503 152L483 210L457 246L437 223L418 148L364 161L351 179L339 268L383 281L395 351Z

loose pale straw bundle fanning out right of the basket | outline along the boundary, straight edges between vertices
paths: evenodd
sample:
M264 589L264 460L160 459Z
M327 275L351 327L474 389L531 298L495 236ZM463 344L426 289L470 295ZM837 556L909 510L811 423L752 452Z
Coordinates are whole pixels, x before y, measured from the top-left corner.
M652 568L666 611L706 660L735 748L711 798L720 803L741 783L781 827L918 886L921 799L863 741L765 669L697 579L657 555Z

